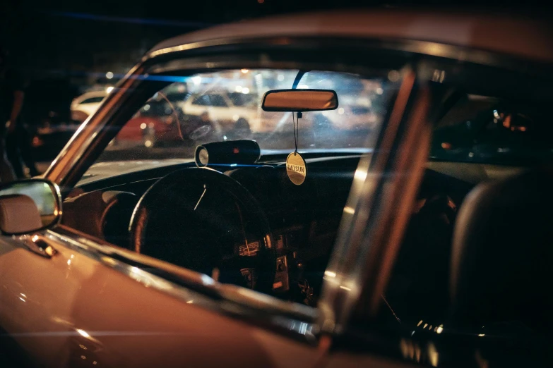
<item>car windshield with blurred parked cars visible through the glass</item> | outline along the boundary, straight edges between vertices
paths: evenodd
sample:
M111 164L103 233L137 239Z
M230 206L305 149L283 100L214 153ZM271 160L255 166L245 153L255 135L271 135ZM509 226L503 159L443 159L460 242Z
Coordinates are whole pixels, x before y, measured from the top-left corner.
M262 155L290 153L295 149L292 112L263 111L261 99L268 90L292 88L298 72L237 69L174 78L126 122L97 163L192 159L197 145L227 140L255 140ZM367 137L379 131L398 79L396 70L388 78L304 73L298 89L335 90L339 106L302 114L298 151L369 152L374 143L367 146Z

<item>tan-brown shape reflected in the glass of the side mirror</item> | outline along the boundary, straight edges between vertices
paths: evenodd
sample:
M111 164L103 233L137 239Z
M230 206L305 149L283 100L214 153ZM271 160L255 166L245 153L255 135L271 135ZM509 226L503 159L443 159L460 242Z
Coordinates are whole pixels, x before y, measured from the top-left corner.
M24 233L29 228L42 228L35 201L27 195L1 197L0 228L5 233Z

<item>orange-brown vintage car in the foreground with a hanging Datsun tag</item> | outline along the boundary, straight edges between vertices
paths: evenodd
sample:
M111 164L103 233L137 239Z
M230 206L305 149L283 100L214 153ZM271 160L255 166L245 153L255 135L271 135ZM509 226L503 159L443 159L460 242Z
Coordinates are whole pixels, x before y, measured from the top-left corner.
M486 111L467 99L551 106L551 24L335 11L158 44L43 178L0 187L1 367L551 367L553 171L516 159L548 115L496 118L497 155L528 145L501 165L429 158ZM244 68L284 129L109 151L173 83ZM363 99L364 128L302 127Z

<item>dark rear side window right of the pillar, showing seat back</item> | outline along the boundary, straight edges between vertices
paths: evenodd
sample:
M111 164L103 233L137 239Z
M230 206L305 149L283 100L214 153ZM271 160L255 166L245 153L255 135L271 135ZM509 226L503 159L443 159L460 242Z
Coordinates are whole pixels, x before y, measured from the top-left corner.
M550 268L551 232L541 208L549 198L553 132L546 96L517 92L461 94L441 105L448 110L434 129L379 309L369 312L365 297L373 290L366 288L352 331L398 332L403 357L434 366L438 356L441 364L458 361L465 352L457 339L468 336L477 359L498 359L495 352L503 362L542 359L537 346L550 345L552 320L542 276Z

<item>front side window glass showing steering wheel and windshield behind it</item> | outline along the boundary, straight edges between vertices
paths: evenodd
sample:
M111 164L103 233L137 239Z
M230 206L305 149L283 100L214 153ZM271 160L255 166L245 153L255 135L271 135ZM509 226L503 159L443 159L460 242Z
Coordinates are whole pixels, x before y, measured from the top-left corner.
M124 124L78 186L112 188L112 180L117 180L124 183L119 190L134 194L126 198L131 204L125 211L110 207L120 212L105 215L112 220L106 222L102 235L129 247L135 244L129 223L133 212L140 216L138 198L160 178L182 172L178 185L160 188L164 194L150 204L164 209L148 211L148 216L157 213L149 220L156 225L150 228L153 233L145 235L150 243L139 250L211 276L218 262L228 264L234 256L259 252L263 243L256 236L256 223L266 217L278 270L272 290L265 292L314 306L359 158L374 149L400 83L388 80L388 71L374 76L309 71L299 87L336 90L339 106L304 113L296 132L292 113L263 111L261 100L270 89L290 88L298 70L201 73L186 78L186 87L182 77L166 85L151 82L155 89L150 99ZM227 106L225 101L232 104ZM285 166L287 156L295 151L295 136L307 166L302 185L292 183ZM225 142L236 140L249 145L225 151ZM206 143L215 147L208 155L208 162L215 164L209 167L225 173L219 177L225 184L217 184L217 190L210 190L213 183L198 182L195 176L201 170L186 170L196 168L196 147ZM258 145L259 152L251 149L252 144ZM253 150L253 159L241 156L244 161L239 164L232 161L237 157L233 154L247 155L248 149ZM242 195L253 200L242 201L230 192L236 182L249 193ZM152 188L147 195L154 192ZM78 208L78 203L66 204L66 211L71 206ZM220 281L250 288L256 288L267 272L255 266L239 266L234 274L225 267L218 269Z

